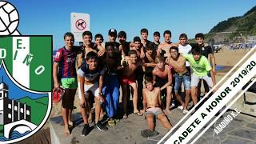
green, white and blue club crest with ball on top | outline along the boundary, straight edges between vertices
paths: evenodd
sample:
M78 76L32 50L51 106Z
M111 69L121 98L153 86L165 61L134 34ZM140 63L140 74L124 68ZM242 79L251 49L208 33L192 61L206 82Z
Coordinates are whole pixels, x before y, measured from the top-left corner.
M21 36L17 27L18 10L0 1L0 143L38 132L52 106L52 36Z

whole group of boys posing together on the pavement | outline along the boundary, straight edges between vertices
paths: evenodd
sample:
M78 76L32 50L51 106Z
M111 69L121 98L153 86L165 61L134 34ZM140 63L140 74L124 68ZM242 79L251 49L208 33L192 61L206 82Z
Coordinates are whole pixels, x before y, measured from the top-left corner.
M186 34L180 34L179 43L170 42L171 32L163 33L164 42L159 42L160 33L154 32L150 42L148 30L141 30L141 38L126 42L126 32L109 30L109 41L103 42L102 34L90 31L82 34L83 45L74 46L74 35L64 34L65 46L54 57L54 90L65 89L62 96L64 134L70 134L70 114L74 107L74 95L78 87L80 110L84 122L82 134L90 133L92 104L95 102L95 127L107 130L99 121L103 111L108 116L108 125L114 126L118 119L119 87L122 87L122 118L127 118L127 103L132 93L134 114L145 113L148 129L142 136L152 136L154 118L158 118L168 130L171 124L166 118L170 114L170 103L176 97L183 110L188 113L190 95L194 105L198 102L198 83L204 79L206 92L215 85L215 60L213 50L203 43L202 33L195 35L196 43L188 44ZM118 38L118 42L116 42ZM210 57L210 62L208 62ZM191 68L191 70L190 70ZM146 88L143 88L144 86ZM185 101L180 96L184 85ZM173 90L174 89L174 90ZM164 102L164 104L163 104ZM162 110L165 109L163 112ZM89 116L89 117L88 117Z

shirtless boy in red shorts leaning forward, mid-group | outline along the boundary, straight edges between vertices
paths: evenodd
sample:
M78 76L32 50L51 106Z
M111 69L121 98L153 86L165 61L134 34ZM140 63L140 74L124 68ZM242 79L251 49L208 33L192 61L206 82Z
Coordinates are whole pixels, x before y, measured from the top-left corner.
M134 114L137 114L139 116L142 115L140 111L138 111L138 87L136 84L135 79L135 70L138 68L138 66L143 66L143 63L138 61L138 55L135 50L130 50L129 58L127 62L127 66L124 66L122 70L122 76L121 76L121 86L122 86L122 104L123 104L123 110L124 115L123 118L127 118L127 101L129 100L129 96L127 94L127 85L130 85L132 89L134 90L133 94L133 104L134 104Z

